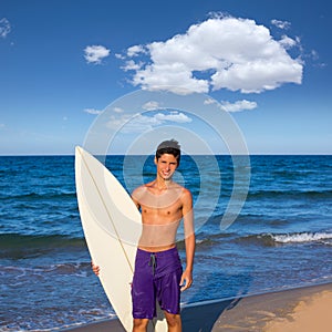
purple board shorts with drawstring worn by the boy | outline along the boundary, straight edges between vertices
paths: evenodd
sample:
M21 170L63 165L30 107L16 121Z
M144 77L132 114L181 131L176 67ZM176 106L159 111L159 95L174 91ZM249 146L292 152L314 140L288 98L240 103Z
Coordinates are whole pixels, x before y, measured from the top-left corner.
M132 286L133 318L156 317L156 301L162 310L179 313L181 273L177 248L160 252L137 249Z

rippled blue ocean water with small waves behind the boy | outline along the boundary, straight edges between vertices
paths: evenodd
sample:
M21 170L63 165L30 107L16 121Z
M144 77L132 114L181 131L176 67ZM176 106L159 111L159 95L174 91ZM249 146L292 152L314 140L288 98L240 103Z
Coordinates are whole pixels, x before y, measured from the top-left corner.
M143 157L131 158L106 159L128 190L154 177L152 156L143 170L135 168ZM231 158L184 156L178 174L199 225L183 303L332 282L332 156L250 156L248 196L226 229ZM184 259L181 240L178 248ZM54 331L115 315L91 270L73 156L0 157L0 331Z

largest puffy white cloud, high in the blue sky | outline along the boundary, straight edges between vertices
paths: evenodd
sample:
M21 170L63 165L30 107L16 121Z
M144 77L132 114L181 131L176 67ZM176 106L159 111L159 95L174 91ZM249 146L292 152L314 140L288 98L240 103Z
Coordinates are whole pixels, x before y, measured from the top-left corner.
M134 71L133 85L152 91L178 93L183 87L198 93L220 89L260 93L284 83L301 83L302 63L287 52L294 44L290 38L274 40L269 29L253 20L221 15L165 42L129 48L132 56L139 50L147 50L149 56L146 60L144 54L139 65L127 63L125 70Z

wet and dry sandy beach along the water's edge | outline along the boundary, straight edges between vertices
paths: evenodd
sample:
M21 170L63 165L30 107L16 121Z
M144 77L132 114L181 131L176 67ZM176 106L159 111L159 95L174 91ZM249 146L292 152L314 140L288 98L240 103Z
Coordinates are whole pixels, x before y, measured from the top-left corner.
M273 293L193 303L181 309L183 331L328 332L332 326L332 283ZM123 332L118 320L63 331Z

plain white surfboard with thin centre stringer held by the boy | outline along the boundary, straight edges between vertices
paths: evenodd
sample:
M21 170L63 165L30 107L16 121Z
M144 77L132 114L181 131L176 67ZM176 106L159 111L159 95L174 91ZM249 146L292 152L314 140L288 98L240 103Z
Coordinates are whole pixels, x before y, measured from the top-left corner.
M131 283L136 247L141 236L141 214L129 195L95 157L75 149L75 179L85 240L104 291L126 331L133 329ZM158 317L149 331L167 331Z

